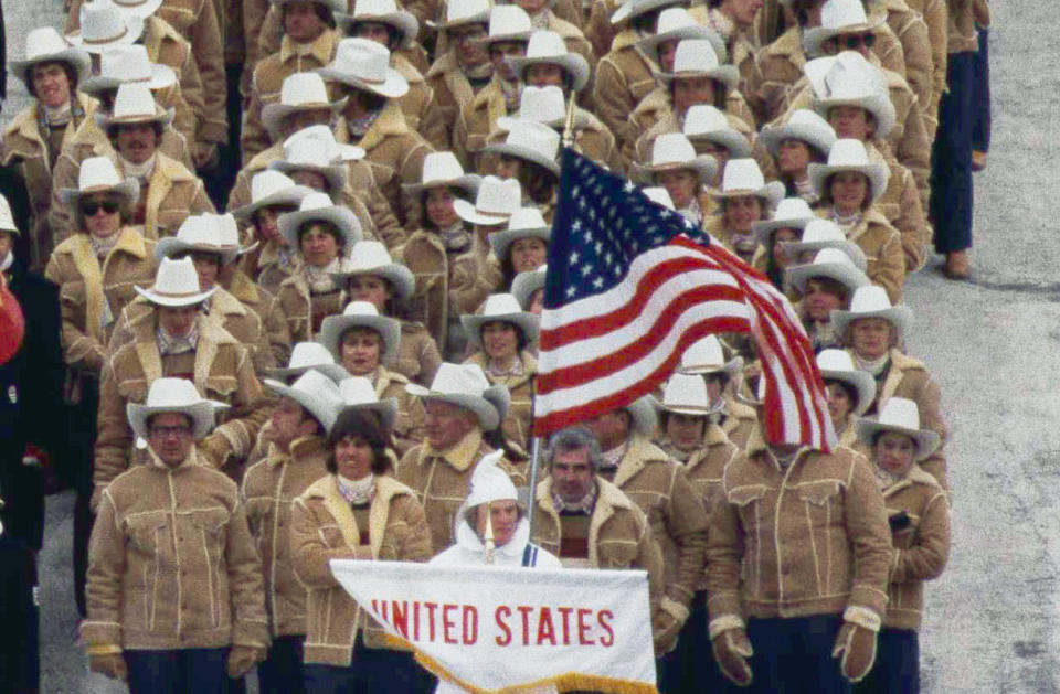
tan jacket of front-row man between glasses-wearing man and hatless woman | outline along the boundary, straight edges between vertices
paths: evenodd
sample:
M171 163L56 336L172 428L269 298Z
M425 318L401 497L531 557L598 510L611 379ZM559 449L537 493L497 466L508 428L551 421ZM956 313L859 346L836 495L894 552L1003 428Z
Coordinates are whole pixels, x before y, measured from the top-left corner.
M295 499L328 474L327 441L306 436L284 452L268 445L268 457L246 470L241 498L254 546L262 557L265 610L274 637L306 633L306 588L295 578L290 554L290 510Z

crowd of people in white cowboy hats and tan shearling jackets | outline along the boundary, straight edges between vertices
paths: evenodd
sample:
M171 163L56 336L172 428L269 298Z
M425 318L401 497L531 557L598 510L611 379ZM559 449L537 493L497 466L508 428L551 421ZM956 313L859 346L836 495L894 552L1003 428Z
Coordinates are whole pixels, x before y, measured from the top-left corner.
M986 0L66 12L7 65L32 103L0 148L25 318L0 495L32 574L49 474L75 490L92 671L458 691L342 557L644 569L667 694L919 691L946 426L902 290L933 253L971 271ZM532 469L564 138L791 298L837 447L765 440L754 344L723 333Z

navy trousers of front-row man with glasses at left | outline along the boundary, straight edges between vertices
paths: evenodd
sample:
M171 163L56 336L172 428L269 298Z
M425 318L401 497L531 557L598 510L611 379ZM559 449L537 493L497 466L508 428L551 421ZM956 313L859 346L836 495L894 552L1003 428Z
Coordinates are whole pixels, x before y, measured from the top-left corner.
M125 651L129 694L236 694L245 691L242 677L225 670L229 648Z

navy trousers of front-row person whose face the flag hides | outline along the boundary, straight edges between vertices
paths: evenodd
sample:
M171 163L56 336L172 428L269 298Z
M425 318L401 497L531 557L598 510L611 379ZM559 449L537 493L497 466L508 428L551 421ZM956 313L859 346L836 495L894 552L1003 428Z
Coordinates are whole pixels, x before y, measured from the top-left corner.
M791 619L749 619L754 677L744 692L845 694L850 683L831 656L842 619L816 615Z

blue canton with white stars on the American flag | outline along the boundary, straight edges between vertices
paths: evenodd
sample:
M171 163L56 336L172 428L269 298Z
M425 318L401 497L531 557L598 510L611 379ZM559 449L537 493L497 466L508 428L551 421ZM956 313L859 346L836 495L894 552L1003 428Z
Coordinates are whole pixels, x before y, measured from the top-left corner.
M639 254L685 233L709 236L680 214L648 200L622 177L571 149L563 151L560 201L549 244L545 307L607 291Z

